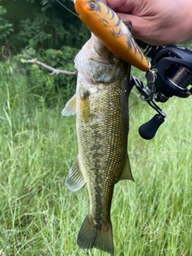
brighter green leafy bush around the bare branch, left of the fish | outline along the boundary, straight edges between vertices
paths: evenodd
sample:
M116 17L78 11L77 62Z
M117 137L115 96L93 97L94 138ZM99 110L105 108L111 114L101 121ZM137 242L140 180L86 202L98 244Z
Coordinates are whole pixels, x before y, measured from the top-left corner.
M33 48L27 48L18 56L24 65L22 69L27 70L29 84L33 88L33 93L39 97L45 96L45 103L50 106L57 102L58 93L62 90L63 99L68 99L74 94L76 85L76 76L63 74L50 75L50 71L42 69L37 65L26 64L27 59L38 58L40 62L52 66L56 69L74 71L74 57L78 54L78 49L70 46L62 46L61 50L44 50L39 54Z

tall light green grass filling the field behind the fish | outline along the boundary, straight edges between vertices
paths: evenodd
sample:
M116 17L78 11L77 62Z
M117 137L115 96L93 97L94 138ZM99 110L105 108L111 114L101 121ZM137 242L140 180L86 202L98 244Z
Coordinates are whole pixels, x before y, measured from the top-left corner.
M108 255L79 250L76 244L89 200L86 186L74 194L65 186L78 154L75 118L62 117L62 95L46 107L25 74L12 64L3 70L3 65L0 255ZM171 98L162 108L166 122L153 140L145 141L138 127L155 113L130 96L129 154L135 182L118 182L114 189L116 256L192 255L191 99Z

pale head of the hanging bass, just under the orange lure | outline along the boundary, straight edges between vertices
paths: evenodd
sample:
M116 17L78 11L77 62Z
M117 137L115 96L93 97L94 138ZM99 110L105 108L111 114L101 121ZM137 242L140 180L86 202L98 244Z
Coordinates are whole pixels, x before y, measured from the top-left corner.
M74 62L78 75L86 80L84 83L99 87L122 78L128 67L127 62L111 53L94 34L91 34Z

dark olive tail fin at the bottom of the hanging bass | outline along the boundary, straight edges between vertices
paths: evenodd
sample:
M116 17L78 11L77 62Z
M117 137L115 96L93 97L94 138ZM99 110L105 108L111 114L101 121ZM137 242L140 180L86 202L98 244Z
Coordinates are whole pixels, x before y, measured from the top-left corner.
M101 230L97 230L94 226L91 226L90 214L88 214L82 223L77 243L79 248L83 250L90 250L95 247L98 250L103 250L114 255L114 242L111 224L108 223L108 225L103 227Z

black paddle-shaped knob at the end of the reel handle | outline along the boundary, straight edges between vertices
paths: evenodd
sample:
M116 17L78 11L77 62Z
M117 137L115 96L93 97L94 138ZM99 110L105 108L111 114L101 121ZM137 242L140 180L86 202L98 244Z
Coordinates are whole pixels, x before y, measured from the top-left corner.
M155 114L150 121L139 127L138 133L144 139L154 138L159 126L161 126L164 121L165 118L163 118L161 114Z

